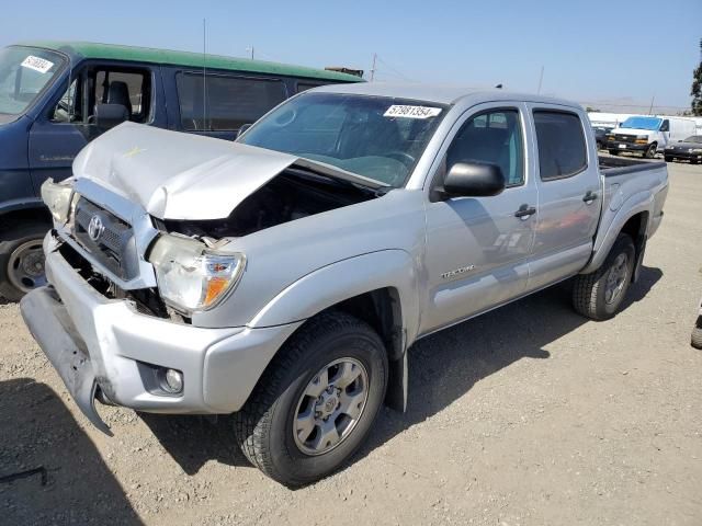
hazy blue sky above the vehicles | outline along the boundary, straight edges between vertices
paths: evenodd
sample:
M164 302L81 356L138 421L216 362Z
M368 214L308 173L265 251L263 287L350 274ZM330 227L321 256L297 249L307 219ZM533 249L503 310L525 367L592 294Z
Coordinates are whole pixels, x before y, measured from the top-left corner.
M543 93L600 107L647 108L655 96L680 111L702 38L702 0L24 0L3 5L0 45L56 38L201 52L202 19L208 52L222 55L253 46L256 58L367 71L377 53L378 80L529 92L543 66Z

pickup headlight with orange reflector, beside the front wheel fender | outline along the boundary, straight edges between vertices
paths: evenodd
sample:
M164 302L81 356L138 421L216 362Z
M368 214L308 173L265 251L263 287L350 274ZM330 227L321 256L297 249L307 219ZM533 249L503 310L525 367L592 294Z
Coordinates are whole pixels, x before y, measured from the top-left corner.
M186 312L220 302L236 287L246 266L241 253L171 235L156 240L148 260L163 300Z

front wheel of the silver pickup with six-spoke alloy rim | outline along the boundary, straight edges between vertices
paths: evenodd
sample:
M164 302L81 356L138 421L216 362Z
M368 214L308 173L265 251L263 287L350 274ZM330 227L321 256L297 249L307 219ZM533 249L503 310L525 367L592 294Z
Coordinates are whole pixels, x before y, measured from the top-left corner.
M310 319L235 414L244 455L288 487L332 473L363 444L387 375L383 342L365 322L342 312Z

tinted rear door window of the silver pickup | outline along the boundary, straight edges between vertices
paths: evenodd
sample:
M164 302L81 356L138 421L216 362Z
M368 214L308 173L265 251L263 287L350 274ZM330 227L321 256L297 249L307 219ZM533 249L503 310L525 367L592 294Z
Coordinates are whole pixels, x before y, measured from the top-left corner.
M585 134L575 113L534 111L542 181L575 175L588 165Z

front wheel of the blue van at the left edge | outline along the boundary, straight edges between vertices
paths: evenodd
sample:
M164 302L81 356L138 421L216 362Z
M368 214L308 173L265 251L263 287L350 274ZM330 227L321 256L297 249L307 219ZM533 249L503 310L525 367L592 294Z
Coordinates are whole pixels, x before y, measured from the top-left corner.
M49 228L48 224L37 221L8 227L0 232L0 296L10 301L19 301L27 291L46 283L43 253L36 275L19 276L22 260L18 258L21 251L32 252L36 259L36 250L41 251L42 241Z

